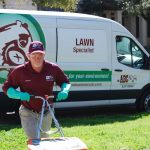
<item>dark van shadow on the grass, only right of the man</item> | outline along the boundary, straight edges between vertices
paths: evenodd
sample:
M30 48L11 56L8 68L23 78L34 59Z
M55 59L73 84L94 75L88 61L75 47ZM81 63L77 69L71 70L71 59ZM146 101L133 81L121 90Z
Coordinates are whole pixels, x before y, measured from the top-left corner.
M58 113L59 122L63 127L112 124L115 122L132 121L149 115L146 112L137 112L133 106L105 107L76 111L78 111L78 115L65 115L64 117L61 117ZM73 114L71 111L69 113Z

